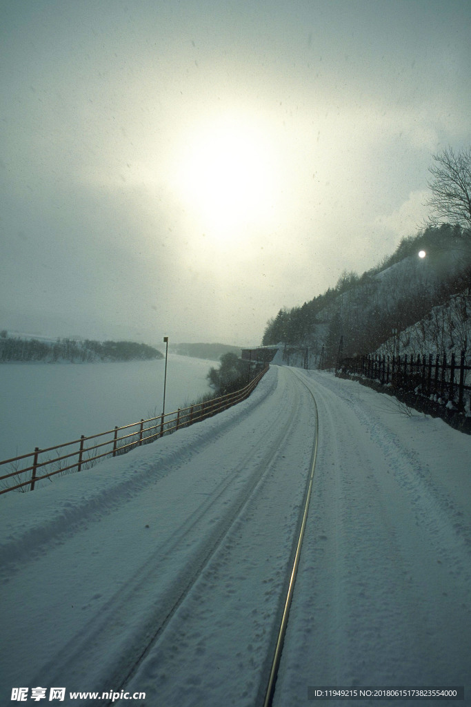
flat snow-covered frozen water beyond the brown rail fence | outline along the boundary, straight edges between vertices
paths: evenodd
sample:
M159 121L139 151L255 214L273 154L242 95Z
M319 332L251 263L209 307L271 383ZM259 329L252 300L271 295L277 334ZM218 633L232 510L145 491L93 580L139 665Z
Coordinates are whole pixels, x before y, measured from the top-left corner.
M214 361L169 354L165 411L210 389ZM162 412L165 359L0 366L0 460Z

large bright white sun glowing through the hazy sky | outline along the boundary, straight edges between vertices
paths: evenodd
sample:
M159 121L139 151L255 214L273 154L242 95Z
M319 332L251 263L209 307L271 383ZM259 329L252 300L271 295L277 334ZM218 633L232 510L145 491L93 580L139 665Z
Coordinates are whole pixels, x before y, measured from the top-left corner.
M232 237L244 227L270 221L274 161L261 129L224 119L196 130L186 141L179 160L179 189L205 230Z

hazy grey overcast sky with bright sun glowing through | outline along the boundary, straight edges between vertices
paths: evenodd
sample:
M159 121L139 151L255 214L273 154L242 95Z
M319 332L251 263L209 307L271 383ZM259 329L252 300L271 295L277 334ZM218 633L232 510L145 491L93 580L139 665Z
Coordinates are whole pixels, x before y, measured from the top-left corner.
M0 328L258 344L417 233L469 0L2 0Z

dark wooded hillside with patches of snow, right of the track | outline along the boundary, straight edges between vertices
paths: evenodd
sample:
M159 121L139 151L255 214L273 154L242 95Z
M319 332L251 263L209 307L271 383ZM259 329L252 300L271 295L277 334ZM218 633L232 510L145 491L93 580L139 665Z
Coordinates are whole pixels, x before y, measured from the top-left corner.
M280 310L268 322L264 343L309 348L314 366L321 356L324 365L335 365L339 351L349 357L372 354L386 344L381 351L397 352L397 341L388 342L393 331L402 334L405 350L441 354L444 347L459 354L469 341L471 241L464 231L456 233L431 229L406 240L383 269L361 277L345 273L335 289L302 307Z

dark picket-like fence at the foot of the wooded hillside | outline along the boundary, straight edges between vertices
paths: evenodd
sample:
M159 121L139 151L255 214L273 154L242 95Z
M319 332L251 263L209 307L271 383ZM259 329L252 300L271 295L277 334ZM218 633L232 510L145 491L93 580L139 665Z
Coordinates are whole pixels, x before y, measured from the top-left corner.
M451 354L448 361L446 353L436 355L435 360L432 354L404 354L392 358L369 354L342 359L338 370L440 398L460 412L465 410L465 391L471 390L471 386L466 385L466 374L471 366L466 365L465 351L461 351L459 363L455 354Z

